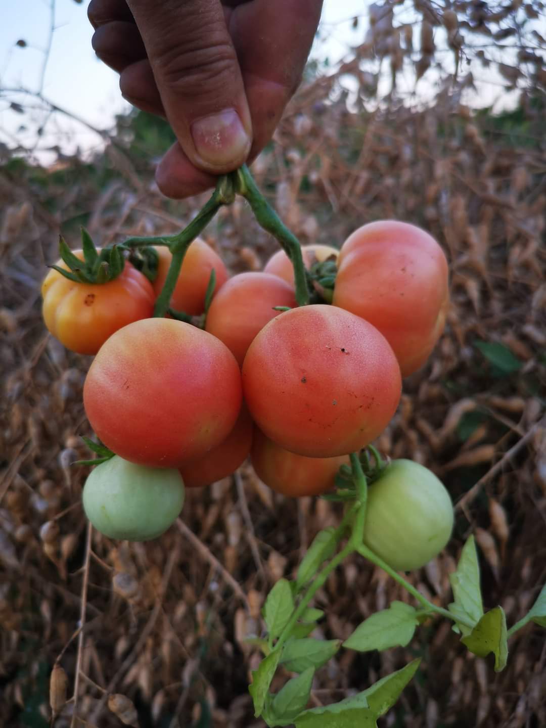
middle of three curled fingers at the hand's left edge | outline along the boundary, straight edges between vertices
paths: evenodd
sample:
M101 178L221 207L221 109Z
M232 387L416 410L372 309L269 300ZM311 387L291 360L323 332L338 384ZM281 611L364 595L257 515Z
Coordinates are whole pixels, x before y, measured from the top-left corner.
M122 20L99 25L93 33L91 45L98 58L119 74L131 63L146 58L146 49L137 26Z

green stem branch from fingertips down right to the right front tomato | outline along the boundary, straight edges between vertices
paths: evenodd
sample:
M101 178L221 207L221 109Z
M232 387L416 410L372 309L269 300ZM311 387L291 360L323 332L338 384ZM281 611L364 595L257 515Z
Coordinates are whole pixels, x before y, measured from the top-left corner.
M296 283L296 301L298 301L299 306L306 306L309 303L308 273L304 266L304 259L301 256L301 246L298 239L285 226L279 215L269 205L269 202L264 199L248 167L242 165L234 175L236 175L236 191L238 194L245 197L250 207L252 207L258 223L264 230L277 238L282 249L292 261L294 282Z

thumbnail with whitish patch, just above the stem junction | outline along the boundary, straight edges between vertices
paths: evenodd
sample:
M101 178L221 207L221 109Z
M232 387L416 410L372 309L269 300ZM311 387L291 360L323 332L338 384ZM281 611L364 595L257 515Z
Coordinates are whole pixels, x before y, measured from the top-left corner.
M191 137L202 161L214 167L242 164L250 151L250 137L234 108L191 124Z

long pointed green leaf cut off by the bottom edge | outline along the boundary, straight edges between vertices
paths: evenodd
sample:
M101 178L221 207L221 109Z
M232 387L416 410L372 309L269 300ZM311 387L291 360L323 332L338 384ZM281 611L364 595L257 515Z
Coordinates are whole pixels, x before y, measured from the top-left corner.
M376 720L396 703L420 662L410 662L358 695L300 713L294 721L296 728L376 728Z

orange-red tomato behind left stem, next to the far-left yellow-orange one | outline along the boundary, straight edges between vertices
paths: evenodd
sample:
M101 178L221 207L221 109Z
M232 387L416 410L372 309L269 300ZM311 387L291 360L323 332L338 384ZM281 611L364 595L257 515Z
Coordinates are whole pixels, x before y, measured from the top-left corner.
M156 280L154 280L154 292L157 298L165 284L173 256L163 245L157 245L156 250L159 253L159 267ZM226 266L218 253L210 248L210 245L207 245L204 240L196 238L186 250L181 272L173 296L170 298L170 306L176 311L184 311L191 316L202 314L205 311L205 293L207 293L212 269L216 274L214 287L216 292L228 279Z

